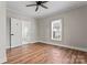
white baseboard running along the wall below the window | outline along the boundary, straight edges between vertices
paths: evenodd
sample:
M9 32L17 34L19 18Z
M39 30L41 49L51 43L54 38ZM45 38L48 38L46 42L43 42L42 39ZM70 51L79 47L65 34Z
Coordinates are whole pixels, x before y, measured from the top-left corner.
M44 41L40 41L40 42L46 43L46 44L52 44L52 45L57 45L57 46L63 46L63 47L68 47L68 48L73 48L73 50L78 50L78 51L83 51L83 52L87 52L87 48L81 48L81 47L77 47L77 46L69 46L69 45L64 45L64 44L56 44L56 43L44 42Z

